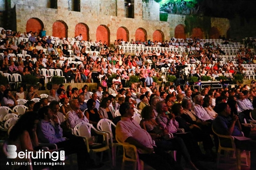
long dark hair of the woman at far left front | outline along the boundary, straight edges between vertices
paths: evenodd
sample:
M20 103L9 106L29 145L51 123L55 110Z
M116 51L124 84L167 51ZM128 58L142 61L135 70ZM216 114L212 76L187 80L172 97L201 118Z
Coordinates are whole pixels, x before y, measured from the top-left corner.
M32 132L36 130L36 124L38 122L39 117L36 112L24 113L11 129L9 140L16 141L24 131L27 131L30 137L32 137Z

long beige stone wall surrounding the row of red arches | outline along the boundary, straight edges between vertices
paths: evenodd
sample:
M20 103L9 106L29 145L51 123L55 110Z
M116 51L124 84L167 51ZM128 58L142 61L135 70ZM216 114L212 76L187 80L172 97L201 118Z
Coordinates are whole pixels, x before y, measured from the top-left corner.
M164 33L164 39L169 39L169 24L164 21L144 21L142 19L142 0L135 0L135 18L124 17L124 0L100 1L102 8L93 8L89 4L96 4L99 1L95 0L81 0L81 12L68 11L68 4L65 0L58 0L58 8L45 8L45 6L30 6L27 4L16 4L16 18L17 18L17 31L26 31L26 22L30 18L38 18L43 22L47 35L52 35L52 25L55 21L62 21L68 27L68 37L74 37L75 26L78 23L84 23L89 29L89 39L96 40L96 30L98 26L104 25L110 32L110 43L117 39L117 29L124 27L129 31L129 39L135 39L135 32L138 28L143 28L147 32L148 39L153 39L155 30L161 30ZM17 1L12 1L12 3ZM20 2L20 1L18 1ZM116 4L116 7L107 8L104 6L106 3ZM31 1L31 5L36 4ZM84 6L87 5L87 6ZM117 8L117 12L115 10ZM101 10L101 12L100 12ZM115 11L115 12L113 12ZM106 15L109 12L113 15ZM116 15L117 16L114 16Z

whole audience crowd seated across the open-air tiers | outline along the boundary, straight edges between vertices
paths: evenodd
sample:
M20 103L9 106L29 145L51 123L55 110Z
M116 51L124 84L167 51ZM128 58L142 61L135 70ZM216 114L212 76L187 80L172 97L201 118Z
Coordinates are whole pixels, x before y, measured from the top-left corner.
M224 75L232 79L235 74L243 74L246 68L242 63L256 63L255 53L249 48L239 49L235 60L238 66L234 66L232 61L221 65L221 56L225 52L220 45L199 38L179 41L172 37L165 42L132 40L130 44L170 48L183 46L189 52L179 54L167 50L137 50L135 57L132 57L119 49L120 45L127 43L122 40L114 42L115 48L109 48L106 42L82 41L82 34L76 37L77 41L60 38L59 45L56 45L56 39L54 42L51 40L51 36L46 40L45 35L40 37L38 33L26 35L8 31L5 36L3 34L2 30L0 38L4 41L1 42L0 50L4 52L1 65L3 73L32 74L40 81L43 75L39 69L54 68L62 69L68 82L72 79L75 82L100 82L93 92L88 91L87 85L78 89L71 85L65 88L61 84L59 89L50 90L50 95L37 103L32 99L40 96L33 87L29 87L27 93L24 93L23 87L19 87L17 93L12 95L9 87L1 85L1 106L13 108L17 100L28 100L26 113L10 131L9 141L21 146L17 148L36 152L39 142L55 143L67 154L77 153L78 169L95 167L82 138L72 135L70 129L81 122L96 127L100 119L108 119L117 125L113 129L117 141L135 145L139 158L149 166L156 170L182 169L182 156L191 169L197 170L204 169L200 161L215 160L213 146L217 150L218 140L212 130L213 124L219 134L244 134L251 138L246 143L247 147L243 147L243 141L235 142L237 147L251 151L251 169L256 169L255 137L251 136L251 129L242 124L246 120L249 122L250 112L256 108L254 81L251 87L244 85L232 89L213 89L207 86L198 91L187 84L184 87L157 88L152 78L160 78L157 69L161 70L162 67L169 67L168 74L176 75L177 66L196 64L195 68L190 67L188 77L198 76L200 79L208 75L218 79ZM19 42L19 37L29 39L24 43ZM91 51L87 51L87 48ZM16 57L18 54L23 57ZM76 64L66 57L73 58ZM32 62L34 59L36 61ZM212 64L214 66L211 67ZM124 88L132 75L138 75L140 83L137 87L132 83L130 87ZM114 78L108 84L107 79L110 77ZM142 118L140 122L132 119L135 114ZM213 135L213 139L210 135ZM100 137L97 139L100 140ZM198 145L199 141L203 143L203 150ZM170 150L177 150L176 162L166 153Z

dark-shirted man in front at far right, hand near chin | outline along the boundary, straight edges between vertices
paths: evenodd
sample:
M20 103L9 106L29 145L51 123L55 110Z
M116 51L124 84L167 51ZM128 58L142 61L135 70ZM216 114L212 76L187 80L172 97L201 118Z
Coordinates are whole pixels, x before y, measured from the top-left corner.
M230 106L226 103L221 103L219 114L213 121L213 129L217 134L228 135L234 137L243 136L241 124L237 115L230 116ZM239 140L234 138L237 148L241 150L251 151L251 170L256 169L256 141L248 138L248 140Z

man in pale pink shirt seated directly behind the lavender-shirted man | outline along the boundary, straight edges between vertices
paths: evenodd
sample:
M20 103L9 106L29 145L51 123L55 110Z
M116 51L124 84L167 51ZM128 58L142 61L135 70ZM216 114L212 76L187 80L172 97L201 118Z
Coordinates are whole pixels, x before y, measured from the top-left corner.
M68 123L70 128L74 128L78 123L84 122L89 123L89 120L84 116L83 112L80 110L80 104L78 100L74 99L69 102L71 110L67 113Z

